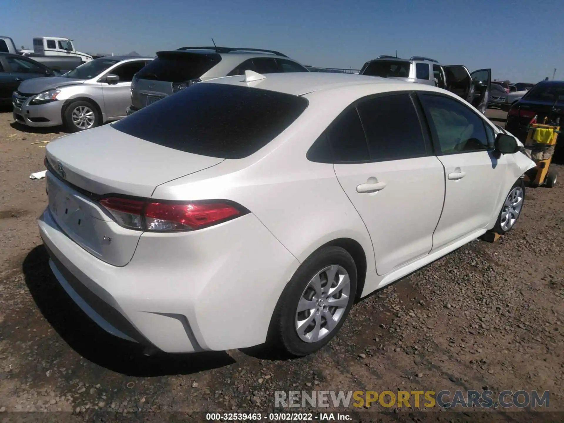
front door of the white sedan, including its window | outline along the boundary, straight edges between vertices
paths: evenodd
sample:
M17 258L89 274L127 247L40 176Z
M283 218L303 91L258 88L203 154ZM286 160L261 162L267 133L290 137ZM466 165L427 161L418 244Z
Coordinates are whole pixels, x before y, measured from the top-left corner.
M445 195L433 250L486 228L504 186L507 160L493 155L494 131L462 102L420 94L437 157L444 166Z

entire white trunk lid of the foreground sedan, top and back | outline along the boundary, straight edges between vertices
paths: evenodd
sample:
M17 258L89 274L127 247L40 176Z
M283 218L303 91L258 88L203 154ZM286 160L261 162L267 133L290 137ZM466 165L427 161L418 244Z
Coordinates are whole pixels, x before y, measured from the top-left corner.
M55 222L83 249L114 266L130 262L143 232L117 224L98 202L101 196L151 197L158 185L224 160L159 146L109 125L49 143L46 159Z

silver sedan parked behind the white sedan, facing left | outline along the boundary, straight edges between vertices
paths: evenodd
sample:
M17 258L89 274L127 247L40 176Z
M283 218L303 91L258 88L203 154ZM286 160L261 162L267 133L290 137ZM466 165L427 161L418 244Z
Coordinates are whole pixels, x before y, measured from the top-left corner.
M77 132L125 117L131 80L151 60L108 56L60 77L23 81L12 95L14 120L27 126L64 125Z

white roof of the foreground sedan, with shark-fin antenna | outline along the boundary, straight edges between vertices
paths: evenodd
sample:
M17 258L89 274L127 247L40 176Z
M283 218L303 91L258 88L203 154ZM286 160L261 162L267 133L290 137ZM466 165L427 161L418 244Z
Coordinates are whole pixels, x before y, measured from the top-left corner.
M439 91L439 89L413 82L390 80L374 76L364 76L350 73L322 73L322 72L287 72L268 73L264 79L244 82L243 75L214 78L204 83L225 83L230 85L249 86L263 90L285 92L292 95L304 95L314 91L328 91L342 87L358 87L370 85L377 91L395 90L426 90ZM440 90L444 92L444 90Z

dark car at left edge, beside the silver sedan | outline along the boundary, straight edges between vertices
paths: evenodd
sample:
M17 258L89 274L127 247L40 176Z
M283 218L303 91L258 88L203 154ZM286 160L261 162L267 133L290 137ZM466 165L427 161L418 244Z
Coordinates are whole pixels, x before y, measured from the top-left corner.
M21 81L45 76L55 76L55 73L35 60L0 52L0 105L12 104L12 92Z

